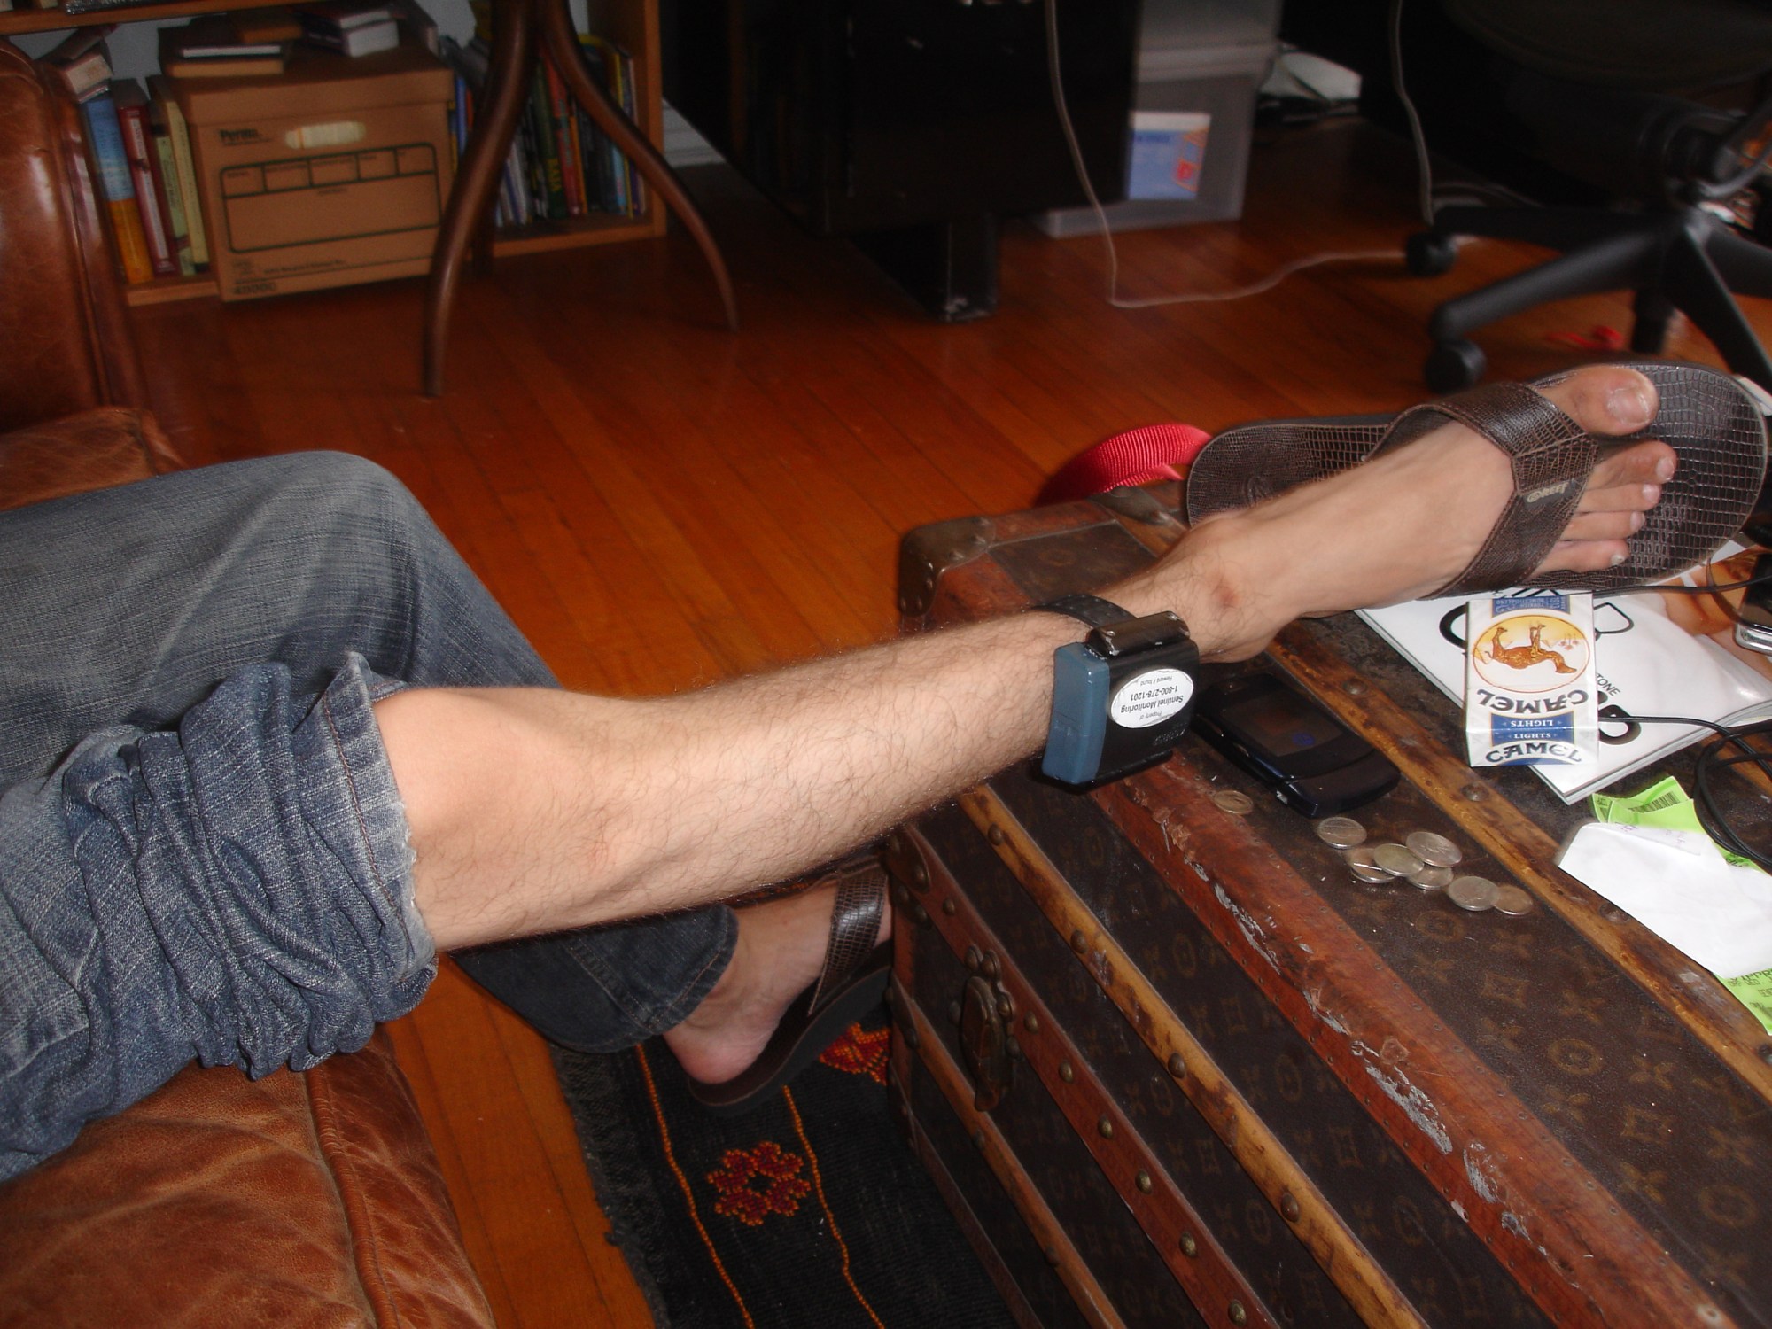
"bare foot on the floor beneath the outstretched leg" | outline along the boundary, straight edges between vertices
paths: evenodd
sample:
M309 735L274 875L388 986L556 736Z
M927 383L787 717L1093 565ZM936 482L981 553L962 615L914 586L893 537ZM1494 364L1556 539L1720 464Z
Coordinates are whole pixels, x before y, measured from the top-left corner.
M764 1051L781 1014L824 968L836 886L785 895L739 909L732 962L689 1017L664 1031L664 1042L691 1077L719 1084ZM882 911L875 944L891 936Z

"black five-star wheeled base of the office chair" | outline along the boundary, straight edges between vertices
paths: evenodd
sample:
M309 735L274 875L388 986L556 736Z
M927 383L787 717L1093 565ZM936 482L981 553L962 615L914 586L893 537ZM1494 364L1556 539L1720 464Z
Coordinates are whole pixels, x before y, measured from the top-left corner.
M1411 269L1426 276L1449 268L1457 236L1524 239L1559 253L1434 310L1428 335L1435 347L1426 361L1434 392L1458 392L1483 376L1483 353L1469 340L1478 328L1552 299L1604 291L1636 292L1632 351L1659 354L1678 310L1733 372L1772 390L1772 360L1735 303L1735 292L1772 296L1772 250L1698 207L1442 207L1434 229L1411 239Z

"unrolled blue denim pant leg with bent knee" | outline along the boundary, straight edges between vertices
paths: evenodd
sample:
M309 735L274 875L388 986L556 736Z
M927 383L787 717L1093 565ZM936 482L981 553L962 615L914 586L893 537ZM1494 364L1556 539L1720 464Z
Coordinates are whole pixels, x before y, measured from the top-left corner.
M85 734L158 730L245 664L310 700L351 650L413 684L553 682L386 471L296 454L0 514L0 785ZM670 1028L732 953L730 911L525 943L494 994L579 1045Z

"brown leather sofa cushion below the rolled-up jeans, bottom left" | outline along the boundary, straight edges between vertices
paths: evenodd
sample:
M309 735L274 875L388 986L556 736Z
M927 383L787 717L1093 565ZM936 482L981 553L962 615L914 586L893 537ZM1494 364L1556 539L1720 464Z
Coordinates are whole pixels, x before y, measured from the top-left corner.
M386 1033L260 1081L186 1067L0 1185L0 1324L486 1327Z

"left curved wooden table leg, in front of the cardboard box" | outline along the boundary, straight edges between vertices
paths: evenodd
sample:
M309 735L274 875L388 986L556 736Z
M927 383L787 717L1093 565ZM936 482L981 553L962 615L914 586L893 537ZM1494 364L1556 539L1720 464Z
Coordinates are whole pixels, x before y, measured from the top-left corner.
M498 179L523 115L528 71L535 60L535 0L500 0L493 23L493 57L487 69L487 103L478 108L473 133L461 154L455 184L443 207L438 243L431 252L431 282L425 287L424 392L443 395L443 351L448 319L461 284L461 264L475 232L493 207Z

